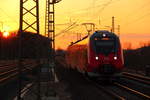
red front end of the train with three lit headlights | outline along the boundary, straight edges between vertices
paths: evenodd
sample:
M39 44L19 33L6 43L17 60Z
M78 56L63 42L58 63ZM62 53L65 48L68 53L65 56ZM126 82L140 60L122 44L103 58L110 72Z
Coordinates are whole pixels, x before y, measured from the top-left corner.
M124 60L120 40L114 33L96 31L89 38L89 74L114 75L123 69Z

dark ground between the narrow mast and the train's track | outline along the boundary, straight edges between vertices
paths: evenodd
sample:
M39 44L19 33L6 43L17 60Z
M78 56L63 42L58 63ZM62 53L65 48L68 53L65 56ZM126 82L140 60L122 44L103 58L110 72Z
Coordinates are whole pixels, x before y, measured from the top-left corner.
M65 86L64 91L67 93L66 100L112 100L75 70L66 70L62 65L58 64L56 74L59 83Z

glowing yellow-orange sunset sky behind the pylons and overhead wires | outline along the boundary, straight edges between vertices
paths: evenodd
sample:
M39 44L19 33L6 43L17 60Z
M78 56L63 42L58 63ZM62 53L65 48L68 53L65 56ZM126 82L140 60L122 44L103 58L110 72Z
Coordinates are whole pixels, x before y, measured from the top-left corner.
M44 33L45 1L40 0L40 32ZM150 0L62 0L56 4L56 34L76 22L79 26L56 38L56 47L64 47L76 40L76 33L86 34L82 23L92 22L97 29L111 26L111 17L115 16L115 25L121 26L121 40L131 42L137 47L140 42L150 39ZM17 30L19 26L19 0L0 1L0 30ZM109 28L106 28L109 29ZM117 30L116 30L117 32ZM83 34L83 35L84 35ZM73 38L74 37L74 38ZM69 40L71 38L71 40Z

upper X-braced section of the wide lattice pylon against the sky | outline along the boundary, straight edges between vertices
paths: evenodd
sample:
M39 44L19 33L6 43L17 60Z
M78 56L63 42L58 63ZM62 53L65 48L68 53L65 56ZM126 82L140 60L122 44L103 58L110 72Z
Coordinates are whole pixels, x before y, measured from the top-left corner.
M20 0L19 31L27 30L39 34L39 0Z

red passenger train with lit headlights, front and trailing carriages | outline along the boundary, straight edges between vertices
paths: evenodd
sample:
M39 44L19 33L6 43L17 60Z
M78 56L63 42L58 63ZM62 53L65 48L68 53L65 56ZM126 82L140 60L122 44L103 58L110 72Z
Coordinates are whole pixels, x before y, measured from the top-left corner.
M109 31L96 31L67 49L69 68L89 76L113 76L124 68L119 37Z

